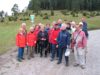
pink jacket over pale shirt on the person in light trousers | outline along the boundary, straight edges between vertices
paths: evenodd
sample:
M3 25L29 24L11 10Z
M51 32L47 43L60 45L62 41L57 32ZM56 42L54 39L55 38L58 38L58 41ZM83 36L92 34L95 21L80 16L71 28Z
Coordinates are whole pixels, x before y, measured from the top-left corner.
M80 33L79 33L80 32ZM78 35L79 34L79 35ZM77 37L78 35L78 37ZM73 40L76 39L76 44L74 44L74 46L77 46L77 48L84 48L86 47L87 45L87 38L85 36L85 33L80 30L80 31L75 31L73 34L72 34L72 37L73 37Z

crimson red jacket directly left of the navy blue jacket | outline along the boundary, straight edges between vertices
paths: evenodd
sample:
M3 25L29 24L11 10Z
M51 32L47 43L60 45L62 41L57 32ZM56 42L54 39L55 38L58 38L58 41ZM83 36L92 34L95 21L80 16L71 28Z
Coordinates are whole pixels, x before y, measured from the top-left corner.
M58 37L59 32L60 32L60 29L52 30L52 33L50 34L50 38L51 38L50 40L52 44L57 44L57 37Z

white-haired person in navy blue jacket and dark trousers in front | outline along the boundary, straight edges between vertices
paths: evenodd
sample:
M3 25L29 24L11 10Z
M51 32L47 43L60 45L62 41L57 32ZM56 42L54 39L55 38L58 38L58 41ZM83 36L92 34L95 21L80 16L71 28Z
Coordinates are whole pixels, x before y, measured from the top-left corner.
M57 38L57 42L58 42L58 53L59 53L59 60L57 64L60 64L62 62L63 53L65 53L67 47L69 47L70 45L70 34L66 30L66 24L62 24L61 31ZM65 57L66 66L68 65L68 59L69 57L66 56Z

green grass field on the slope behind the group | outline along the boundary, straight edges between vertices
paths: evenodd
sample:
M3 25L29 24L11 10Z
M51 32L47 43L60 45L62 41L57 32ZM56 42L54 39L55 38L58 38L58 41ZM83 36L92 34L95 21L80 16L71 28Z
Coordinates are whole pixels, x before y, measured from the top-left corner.
M46 12L49 13L48 11ZM52 21L56 21L59 18L79 22L81 21L82 15L79 14L79 17L72 17L71 15L65 16L59 11L56 11L55 16L51 16L49 20L44 20L42 17L37 16L35 18L35 24L39 22L43 24L52 23ZM15 36L21 23L21 21L0 23L0 54L5 53L15 46ZM89 29L100 29L100 16L87 18L87 23ZM30 21L26 21L26 24L27 29L32 25Z

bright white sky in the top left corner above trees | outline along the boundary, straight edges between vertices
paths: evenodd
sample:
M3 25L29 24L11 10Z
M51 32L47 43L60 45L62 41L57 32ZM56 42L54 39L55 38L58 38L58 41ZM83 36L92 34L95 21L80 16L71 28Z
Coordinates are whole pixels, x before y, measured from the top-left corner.
M8 15L11 15L11 8L16 3L20 10L23 10L28 6L30 0L0 0L0 11L5 11Z

